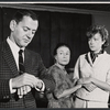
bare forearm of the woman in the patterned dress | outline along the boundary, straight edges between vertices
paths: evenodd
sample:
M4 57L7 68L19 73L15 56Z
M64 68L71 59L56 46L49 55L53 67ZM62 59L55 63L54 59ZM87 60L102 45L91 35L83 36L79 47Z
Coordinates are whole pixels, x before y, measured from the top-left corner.
M62 97L66 97L68 95L72 95L73 92L75 92L77 89L79 89L81 87L81 85L77 85L70 89L66 89L64 90L61 95L56 95L56 98L59 99Z

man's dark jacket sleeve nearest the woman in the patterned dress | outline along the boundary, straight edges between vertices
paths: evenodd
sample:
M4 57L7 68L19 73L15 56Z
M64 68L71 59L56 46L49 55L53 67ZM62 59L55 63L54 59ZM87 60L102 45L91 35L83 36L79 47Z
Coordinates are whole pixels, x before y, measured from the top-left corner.
M47 74L47 69L45 68L41 56L38 56L38 61L40 61L38 63L40 78L45 84L46 92L53 92L55 87L55 81L53 79L53 76Z

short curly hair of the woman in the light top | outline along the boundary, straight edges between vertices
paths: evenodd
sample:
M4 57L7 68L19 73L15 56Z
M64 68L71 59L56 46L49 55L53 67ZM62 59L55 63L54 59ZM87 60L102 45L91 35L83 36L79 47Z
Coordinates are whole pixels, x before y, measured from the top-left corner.
M91 38L97 33L101 35L102 41L106 41L102 45L102 48L105 50L109 45L109 32L103 25L94 25L88 29L87 37Z

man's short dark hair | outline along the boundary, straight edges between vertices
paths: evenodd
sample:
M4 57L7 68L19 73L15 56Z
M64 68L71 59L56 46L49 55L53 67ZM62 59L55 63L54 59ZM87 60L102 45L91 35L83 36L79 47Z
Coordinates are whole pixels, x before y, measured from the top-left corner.
M15 22L19 23L20 21L22 21L23 16L30 16L32 20L38 21L38 15L36 15L31 10L18 10L13 15L12 20L15 20Z

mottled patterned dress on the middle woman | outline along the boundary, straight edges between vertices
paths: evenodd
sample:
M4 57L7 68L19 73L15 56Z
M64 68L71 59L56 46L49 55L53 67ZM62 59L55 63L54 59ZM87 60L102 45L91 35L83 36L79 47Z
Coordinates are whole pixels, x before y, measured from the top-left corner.
M73 95L57 99L56 96L61 95L64 90L73 87L66 70L61 69L57 65L53 65L48 69L55 80L56 87L53 94L48 94L48 108L73 108Z

